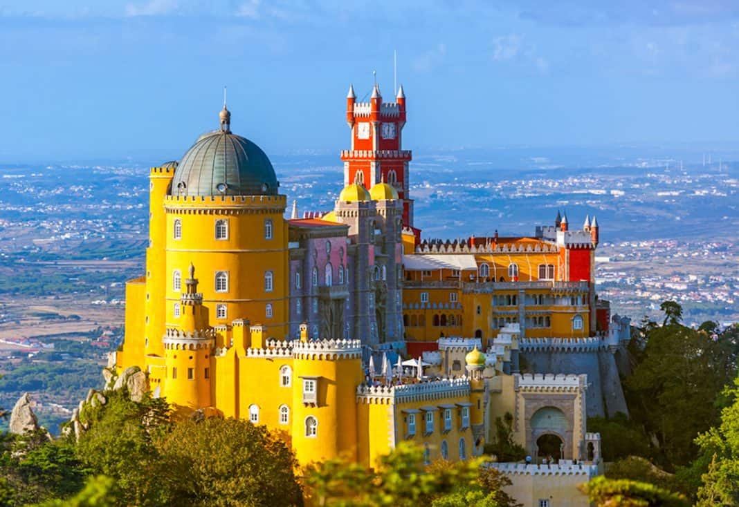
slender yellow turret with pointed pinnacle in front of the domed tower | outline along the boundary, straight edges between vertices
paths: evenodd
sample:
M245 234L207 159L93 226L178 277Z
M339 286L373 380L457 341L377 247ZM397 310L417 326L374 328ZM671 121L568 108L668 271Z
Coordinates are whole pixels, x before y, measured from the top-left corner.
M162 339L165 349L167 401L175 410L197 410L211 405L211 351L214 331L208 326L208 311L197 292L195 267L190 264L186 292L180 298L181 325L168 328Z

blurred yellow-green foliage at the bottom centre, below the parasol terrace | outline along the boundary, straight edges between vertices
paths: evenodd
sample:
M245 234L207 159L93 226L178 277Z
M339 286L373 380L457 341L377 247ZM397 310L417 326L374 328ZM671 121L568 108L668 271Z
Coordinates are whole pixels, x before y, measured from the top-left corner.
M309 466L306 484L319 506L416 507L458 487L474 486L482 459L457 461L426 471L423 448L401 442L375 469L341 459Z

